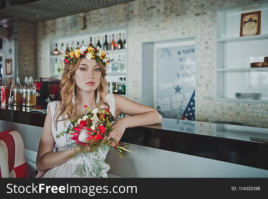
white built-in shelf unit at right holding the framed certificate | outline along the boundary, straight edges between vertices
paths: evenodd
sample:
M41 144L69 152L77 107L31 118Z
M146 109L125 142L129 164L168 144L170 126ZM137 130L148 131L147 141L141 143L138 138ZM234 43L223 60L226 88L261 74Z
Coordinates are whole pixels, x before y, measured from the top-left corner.
M261 10L260 35L240 37L241 14ZM215 10L214 99L225 102L268 103L268 67L251 68L268 56L268 1ZM237 99L235 93L258 93Z

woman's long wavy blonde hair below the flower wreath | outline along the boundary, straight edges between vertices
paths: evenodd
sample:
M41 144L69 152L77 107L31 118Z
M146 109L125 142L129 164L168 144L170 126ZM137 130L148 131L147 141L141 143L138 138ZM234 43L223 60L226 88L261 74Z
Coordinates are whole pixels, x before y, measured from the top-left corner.
M81 62L82 59L86 59L85 57L81 58L81 59L77 59L76 62L73 63L68 63L65 64L64 66L64 71L62 73L62 79L60 81L59 84L59 90L61 92L60 94L60 98L61 98L61 103L60 106L57 107L56 113L53 117L53 123L54 126L57 130L57 122L58 121L64 121L64 126L66 127L65 124L65 120L69 119L69 116L72 115L72 111L73 111L73 106L72 106L72 89L75 88L75 94L76 94L76 80L74 78L74 73L76 71L76 69L78 69L79 64ZM106 73L106 68L104 66L104 64L102 62L98 63L100 68L101 68L101 81L99 86L97 87L97 89L95 90L94 93L94 101L96 101L96 97L97 97L97 91L100 91L101 93L101 97L100 97L100 103L98 104L98 106L101 105L106 105L108 106L108 109L110 109L109 104L105 101L105 97L107 96L107 80L105 78L105 76L107 75ZM55 123L55 116L56 117L56 123ZM58 120L59 116L63 114L63 119L62 120ZM67 118L65 119L65 115L67 114Z

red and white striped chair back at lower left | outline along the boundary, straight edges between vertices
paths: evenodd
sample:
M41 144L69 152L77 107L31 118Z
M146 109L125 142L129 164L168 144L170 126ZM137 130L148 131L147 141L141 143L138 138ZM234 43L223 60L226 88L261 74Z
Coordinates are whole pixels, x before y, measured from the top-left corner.
M15 130L0 132L1 177L28 177L28 164L23 140Z

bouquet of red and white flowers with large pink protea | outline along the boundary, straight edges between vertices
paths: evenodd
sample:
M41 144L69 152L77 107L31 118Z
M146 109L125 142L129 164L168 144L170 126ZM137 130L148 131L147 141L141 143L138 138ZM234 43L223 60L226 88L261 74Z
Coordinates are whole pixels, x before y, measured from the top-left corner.
M89 155L91 152L93 153L105 145L110 147L111 142L115 143L113 148L118 152L120 158L129 154L128 152L131 151L126 148L129 144L117 142L114 138L111 138L111 140L104 139L114 130L111 128L111 123L115 121L115 118L110 110L99 107L90 110L88 106L85 105L84 107L89 113L78 113L75 119L69 118L71 123L68 129L56 135L57 138L65 134L71 134L73 136L71 139L75 143L65 146L66 148L76 147L71 157L85 157L85 154L88 154L88 159L90 160ZM90 152L86 150L86 146L90 147ZM86 162L84 161L84 163ZM84 172L86 171L85 169L83 170ZM81 170L77 170L76 173L81 173Z

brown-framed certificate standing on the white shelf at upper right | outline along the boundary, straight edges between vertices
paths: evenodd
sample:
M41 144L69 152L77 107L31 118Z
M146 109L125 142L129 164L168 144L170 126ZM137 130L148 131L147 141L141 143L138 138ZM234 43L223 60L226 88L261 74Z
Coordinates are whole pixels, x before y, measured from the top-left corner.
M240 36L259 35L261 28L261 11L241 14Z

